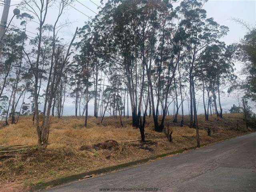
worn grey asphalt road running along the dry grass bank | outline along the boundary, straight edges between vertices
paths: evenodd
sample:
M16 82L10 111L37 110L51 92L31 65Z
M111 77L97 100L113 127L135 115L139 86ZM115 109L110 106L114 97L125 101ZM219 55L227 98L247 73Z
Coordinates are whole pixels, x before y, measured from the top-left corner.
M256 133L46 191L130 188L158 192L256 192Z

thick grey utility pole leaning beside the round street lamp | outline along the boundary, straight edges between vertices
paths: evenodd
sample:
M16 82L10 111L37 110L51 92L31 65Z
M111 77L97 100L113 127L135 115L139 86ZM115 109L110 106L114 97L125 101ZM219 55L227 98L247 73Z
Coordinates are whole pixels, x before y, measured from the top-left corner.
M4 1L4 10L2 13L2 18L1 18L1 23L0 23L0 57L2 54L2 50L3 50L2 39L3 39L5 31L6 31L6 23L7 23L7 19L8 19L10 4L11 4L11 0Z

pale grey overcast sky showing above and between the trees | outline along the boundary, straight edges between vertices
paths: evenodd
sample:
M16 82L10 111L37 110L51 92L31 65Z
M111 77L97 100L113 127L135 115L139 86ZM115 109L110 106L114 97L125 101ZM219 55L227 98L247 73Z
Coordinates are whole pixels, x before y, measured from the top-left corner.
M100 0L92 0L95 4L100 5ZM11 0L11 5L19 4L20 0ZM95 4L90 2L89 0L80 0L82 4L87 6L88 8L92 9L94 12L98 13L98 8ZM66 28L63 28L60 36L64 39L64 42L70 42L72 39L72 35L74 34L75 28L82 27L85 21L88 21L89 18L85 16L84 14L94 17L96 14L92 11L90 11L88 8L84 7L82 4L78 2L74 2L73 6L77 9L75 10L71 6L67 8L65 11L64 16L62 16L62 20L60 23L70 22L69 26ZM8 20L12 17L13 9L16 8L16 6L11 6ZM240 18L247 22L248 24L255 25L256 22L256 0L209 0L206 4L204 4L203 7L207 11L208 17L213 17L216 22L218 22L220 25L228 26L230 29L230 32L228 32L228 35L222 38L222 41L226 42L226 44L232 44L235 42L239 42L241 38L244 37L246 34L246 29L244 29L242 26L240 26L238 23L232 21L232 18ZM2 9L3 6L0 6L0 15L2 15ZM79 11L80 12L79 12ZM21 12L23 12L21 10ZM84 14L82 14L82 13ZM52 7L49 10L48 16L46 18L46 23L52 24L54 22L54 19L56 18L56 7ZM17 21L15 18L12 22L12 24L19 26L19 21ZM36 32L36 25L35 23L31 22L28 25L27 30L30 32ZM30 36L36 36L35 34L28 33ZM238 71L241 70L241 64L236 63L236 69L237 74ZM240 76L240 74L238 74ZM240 76L242 78L242 76ZM242 94L240 95L242 96ZM68 98L66 100L65 106L64 106L64 114L65 115L74 115L74 103L72 103L73 100ZM235 96L229 96L225 94L222 96L222 104L224 111L227 111L230 109L232 104L237 104L238 101ZM185 103L185 106L186 103ZM187 109L185 110L187 112ZM201 104L198 105L198 113L203 112L203 106ZM93 103L89 104L89 114L93 114Z

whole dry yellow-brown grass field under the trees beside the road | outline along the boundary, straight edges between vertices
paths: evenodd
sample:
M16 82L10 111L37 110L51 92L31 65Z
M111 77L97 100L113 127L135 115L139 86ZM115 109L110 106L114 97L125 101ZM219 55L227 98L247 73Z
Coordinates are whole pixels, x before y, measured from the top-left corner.
M90 170L96 170L125 162L140 160L158 154L164 154L196 146L196 130L188 128L189 117L185 116L185 125L172 123L172 142L168 142L164 133L153 130L152 118L147 118L145 135L147 142L140 141L140 132L131 126L131 118L123 118L124 127L120 127L119 118L106 117L102 125L100 119L90 117L88 128L84 128L84 119L52 117L49 145L46 150L34 147L26 152L12 156L0 156L0 183L22 182L26 186L38 182L61 178ZM242 114L224 114L220 119L198 116L201 144L210 144L248 132ZM207 128L214 130L207 135ZM103 147L107 140L114 140L114 146ZM37 143L36 130L32 117L20 118L18 124L0 128L0 146L34 145ZM106 144L106 143L105 143Z

